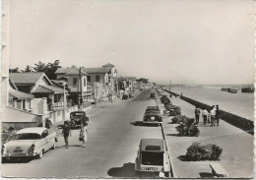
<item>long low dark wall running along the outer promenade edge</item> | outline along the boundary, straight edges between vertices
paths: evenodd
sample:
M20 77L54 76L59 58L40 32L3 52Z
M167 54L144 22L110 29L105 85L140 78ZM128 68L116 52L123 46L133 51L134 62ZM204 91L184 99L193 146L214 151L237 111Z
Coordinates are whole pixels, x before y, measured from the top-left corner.
M173 95L179 95L178 93L175 93L173 91L170 91L170 90L165 90L167 91L168 93L171 93ZM180 96L181 99L187 101L188 103L192 104L192 105L195 105L195 106L198 106L199 108L201 109L206 109L206 110L211 110L212 106L208 105L208 104L205 104L205 103L202 103L202 102L199 102L197 100L194 100L192 98L189 98L189 97L186 97L186 96ZM232 113L229 113L229 112L226 112L224 110L221 110L221 113L222 113L222 119L237 127L237 128L240 128L244 131L246 131L247 133L249 134L254 134L254 121L251 121L249 119L245 119L243 117L240 117L240 116L237 116L235 114L232 114Z

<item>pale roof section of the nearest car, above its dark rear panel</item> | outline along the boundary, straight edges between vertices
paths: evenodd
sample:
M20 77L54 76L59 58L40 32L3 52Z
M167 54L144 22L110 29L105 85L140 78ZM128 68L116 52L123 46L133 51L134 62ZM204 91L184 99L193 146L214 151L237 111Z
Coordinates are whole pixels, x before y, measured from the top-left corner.
M159 147L160 150L147 150L147 147ZM141 140L141 151L158 151L163 152L163 140L162 139L142 139Z

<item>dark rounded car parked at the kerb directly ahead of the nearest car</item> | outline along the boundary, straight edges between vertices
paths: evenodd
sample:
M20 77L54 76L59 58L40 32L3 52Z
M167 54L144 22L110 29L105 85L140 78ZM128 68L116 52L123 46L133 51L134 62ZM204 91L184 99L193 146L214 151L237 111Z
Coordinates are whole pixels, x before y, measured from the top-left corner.
M158 106L148 106L144 113L143 123L145 124L158 124L160 125L162 118Z

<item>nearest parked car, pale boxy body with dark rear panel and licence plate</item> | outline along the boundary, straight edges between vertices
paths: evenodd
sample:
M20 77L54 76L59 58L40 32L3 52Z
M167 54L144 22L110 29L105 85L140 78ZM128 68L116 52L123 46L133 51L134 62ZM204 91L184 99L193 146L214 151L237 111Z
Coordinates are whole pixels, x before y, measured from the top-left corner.
M135 171L157 173L158 177L169 177L170 164L168 153L162 139L142 139L135 160ZM152 176L151 176L152 177Z

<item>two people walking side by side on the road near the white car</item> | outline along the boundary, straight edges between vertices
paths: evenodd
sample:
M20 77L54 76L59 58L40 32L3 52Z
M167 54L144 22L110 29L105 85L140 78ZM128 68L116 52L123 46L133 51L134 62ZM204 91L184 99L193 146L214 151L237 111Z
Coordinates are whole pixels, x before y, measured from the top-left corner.
M70 128L70 123L68 121L64 122L64 127L63 127L63 137L64 137L64 141L66 144L66 149L69 148L69 137L72 136L71 134L71 128ZM82 147L85 148L86 147L86 142L87 142L87 137L88 137L88 131L87 131L87 127L88 127L88 121L83 119L81 120L81 129L80 129L80 134L79 134L79 141L81 141Z

